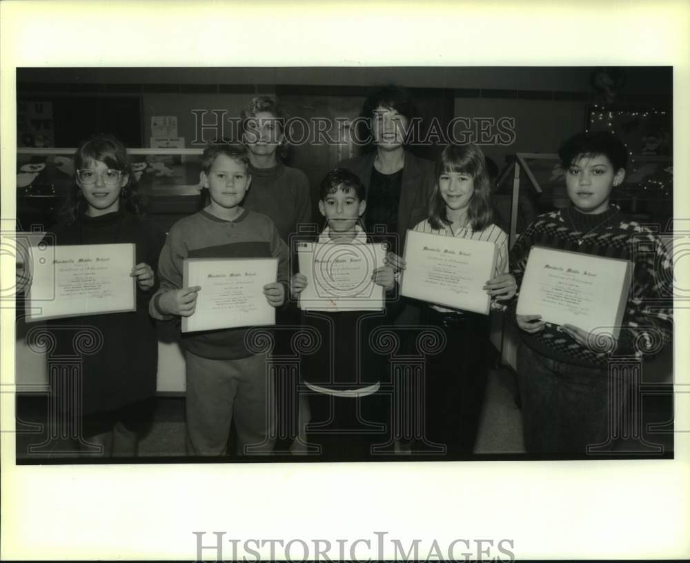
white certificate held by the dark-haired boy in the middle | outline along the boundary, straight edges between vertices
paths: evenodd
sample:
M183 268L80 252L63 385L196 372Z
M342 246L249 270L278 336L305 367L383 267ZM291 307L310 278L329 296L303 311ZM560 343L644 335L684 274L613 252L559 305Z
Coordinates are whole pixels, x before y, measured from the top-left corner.
M303 310L382 310L384 288L373 273L384 265L384 244L358 241L297 244L299 272L308 284L299 295Z

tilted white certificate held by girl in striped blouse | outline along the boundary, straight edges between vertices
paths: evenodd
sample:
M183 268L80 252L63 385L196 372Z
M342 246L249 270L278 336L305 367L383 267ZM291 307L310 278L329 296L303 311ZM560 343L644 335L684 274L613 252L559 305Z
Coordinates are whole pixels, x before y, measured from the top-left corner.
M408 230L400 293L489 315L491 297L482 288L493 277L496 256L493 242Z

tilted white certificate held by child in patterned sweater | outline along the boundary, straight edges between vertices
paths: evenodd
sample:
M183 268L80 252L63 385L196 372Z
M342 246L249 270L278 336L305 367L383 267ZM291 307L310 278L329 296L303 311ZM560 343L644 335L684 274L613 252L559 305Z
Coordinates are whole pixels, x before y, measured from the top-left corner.
M618 338L630 281L627 260L533 246L515 312Z

